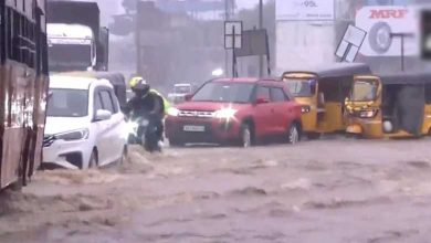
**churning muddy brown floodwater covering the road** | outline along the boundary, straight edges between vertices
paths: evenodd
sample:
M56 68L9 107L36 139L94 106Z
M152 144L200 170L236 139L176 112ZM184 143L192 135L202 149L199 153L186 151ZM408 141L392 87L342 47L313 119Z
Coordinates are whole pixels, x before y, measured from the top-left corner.
M0 242L431 241L431 140L193 147L40 171L0 196Z

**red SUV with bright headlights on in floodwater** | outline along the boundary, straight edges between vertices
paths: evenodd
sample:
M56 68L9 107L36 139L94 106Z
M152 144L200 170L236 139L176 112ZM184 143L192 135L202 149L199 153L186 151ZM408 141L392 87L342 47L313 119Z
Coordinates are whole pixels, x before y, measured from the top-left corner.
M275 80L213 80L168 114L171 146L233 141L250 147L267 138L295 144L301 137L302 107L286 84Z

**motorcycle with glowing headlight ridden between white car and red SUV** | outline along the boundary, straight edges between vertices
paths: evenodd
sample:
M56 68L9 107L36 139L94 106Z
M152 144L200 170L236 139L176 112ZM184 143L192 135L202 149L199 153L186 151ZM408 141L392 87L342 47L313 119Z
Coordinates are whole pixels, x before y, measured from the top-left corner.
M128 123L128 144L141 145L149 152L161 151L159 146L158 127L151 120L139 117L129 119Z

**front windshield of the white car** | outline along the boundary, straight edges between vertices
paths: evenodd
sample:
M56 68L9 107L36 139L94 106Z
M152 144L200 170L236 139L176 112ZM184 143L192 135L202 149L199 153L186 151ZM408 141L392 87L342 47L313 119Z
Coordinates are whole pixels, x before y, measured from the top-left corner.
M84 117L88 114L88 91L50 89L46 115L54 117Z

